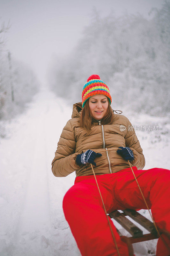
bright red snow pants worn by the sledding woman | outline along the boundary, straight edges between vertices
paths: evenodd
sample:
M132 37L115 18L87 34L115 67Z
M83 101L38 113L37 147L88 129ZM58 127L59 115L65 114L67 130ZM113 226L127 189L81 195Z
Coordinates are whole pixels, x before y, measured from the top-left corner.
M157 226L170 232L170 171L132 168ZM107 213L123 209L146 209L130 168L96 175L96 178ZM76 178L75 184L64 196L63 211L82 256L118 255L93 175ZM111 220L110 223L120 255L128 256L127 245L121 241ZM169 239L163 237L170 245ZM156 255L170 255L160 238Z

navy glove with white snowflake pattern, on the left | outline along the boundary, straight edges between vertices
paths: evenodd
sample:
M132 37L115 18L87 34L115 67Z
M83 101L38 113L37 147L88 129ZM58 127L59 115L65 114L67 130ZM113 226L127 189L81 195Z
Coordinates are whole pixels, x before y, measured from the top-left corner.
M102 156L102 154L95 153L91 149L88 149L87 151L85 151L85 153L77 155L76 162L78 163L78 165L91 163L94 164L94 166L96 166L94 159L99 156Z

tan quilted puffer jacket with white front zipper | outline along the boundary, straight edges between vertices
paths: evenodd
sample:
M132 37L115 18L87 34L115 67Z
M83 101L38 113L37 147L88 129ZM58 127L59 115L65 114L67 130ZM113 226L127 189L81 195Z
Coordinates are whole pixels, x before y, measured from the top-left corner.
M132 166L143 169L145 165L144 155L139 140L128 118L119 114L114 114L112 124L100 125L94 120L90 134L86 135L86 130L79 127L81 115L81 102L73 105L72 119L70 119L61 134L55 158L52 161L52 172L56 177L65 177L76 171L76 176L92 175L90 164L76 163L76 156L91 149L96 153L102 148L129 147L133 151L134 160L130 161ZM116 150L101 153L102 156L95 158L95 174L108 174L129 168L128 161L124 160L116 153Z

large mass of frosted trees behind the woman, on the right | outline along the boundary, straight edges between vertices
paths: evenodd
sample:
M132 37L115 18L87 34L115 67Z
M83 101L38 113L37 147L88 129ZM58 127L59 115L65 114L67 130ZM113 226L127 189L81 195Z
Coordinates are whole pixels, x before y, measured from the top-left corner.
M91 74L99 74L113 95L114 106L161 115L170 111L170 3L152 10L153 18L94 13L74 51L56 60L50 86L59 96L81 100Z

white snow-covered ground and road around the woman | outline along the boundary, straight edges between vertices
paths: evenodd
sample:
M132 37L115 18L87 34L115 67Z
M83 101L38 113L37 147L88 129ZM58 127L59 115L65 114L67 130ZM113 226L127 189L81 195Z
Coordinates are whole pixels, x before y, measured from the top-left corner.
M0 142L1 256L80 256L62 210L63 196L73 185L75 173L56 178L51 172L57 142L71 113L65 100L44 90L35 95L25 113L0 123L4 125ZM139 125L136 133L146 159L144 169L170 169L168 117L122 114ZM149 126L141 131L144 125L151 125L152 131ZM154 125L159 125L158 131L153 131ZM140 212L150 219L146 210ZM136 256L153 256L156 242L135 244Z

